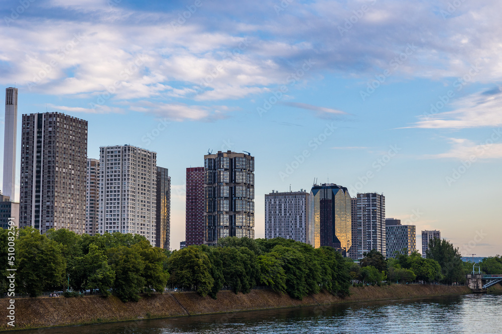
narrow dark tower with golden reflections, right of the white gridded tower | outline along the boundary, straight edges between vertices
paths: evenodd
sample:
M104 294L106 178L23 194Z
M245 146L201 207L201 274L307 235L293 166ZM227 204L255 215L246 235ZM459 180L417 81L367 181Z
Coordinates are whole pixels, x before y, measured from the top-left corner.
M167 168L157 166L157 214L155 246L171 247L171 177Z

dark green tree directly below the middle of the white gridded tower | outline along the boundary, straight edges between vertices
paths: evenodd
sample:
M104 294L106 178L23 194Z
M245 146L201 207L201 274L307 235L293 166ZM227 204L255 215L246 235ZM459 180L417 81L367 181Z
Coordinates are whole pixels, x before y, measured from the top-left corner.
M142 276L145 262L139 251L136 248L118 246L108 249L106 255L111 270L115 272L113 294L122 301L138 301L145 286L145 278Z

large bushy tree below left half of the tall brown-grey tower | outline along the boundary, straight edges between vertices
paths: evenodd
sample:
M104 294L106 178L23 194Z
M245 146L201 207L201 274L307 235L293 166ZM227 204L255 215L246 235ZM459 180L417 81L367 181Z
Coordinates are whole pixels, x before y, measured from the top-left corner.
M57 242L26 227L20 230L17 248L21 292L36 297L46 289L63 286L66 262Z

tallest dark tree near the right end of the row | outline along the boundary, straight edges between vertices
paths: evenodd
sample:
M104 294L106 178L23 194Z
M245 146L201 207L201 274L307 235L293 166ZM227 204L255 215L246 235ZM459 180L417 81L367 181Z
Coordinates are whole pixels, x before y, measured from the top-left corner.
M443 274L443 282L451 284L465 280L462 255L458 248L454 247L446 239L434 238L430 240L426 257L439 263Z

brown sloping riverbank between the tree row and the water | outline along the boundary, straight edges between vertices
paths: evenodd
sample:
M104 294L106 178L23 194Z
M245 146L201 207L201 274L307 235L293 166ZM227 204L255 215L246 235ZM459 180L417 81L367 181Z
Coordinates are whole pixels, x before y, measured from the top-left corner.
M409 299L440 295L471 293L466 286L400 285L352 287L346 298L328 292L293 299L272 290L252 290L247 294L220 291L218 299L201 297L195 292L173 292L143 296L138 302L122 302L114 296L86 296L74 298L16 299L16 327L8 327L6 317L8 299L0 299L2 318L0 330L63 326L144 318L187 316L245 310L316 306L386 299ZM320 306L320 311L322 307Z

